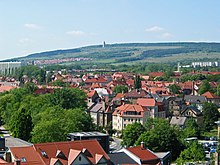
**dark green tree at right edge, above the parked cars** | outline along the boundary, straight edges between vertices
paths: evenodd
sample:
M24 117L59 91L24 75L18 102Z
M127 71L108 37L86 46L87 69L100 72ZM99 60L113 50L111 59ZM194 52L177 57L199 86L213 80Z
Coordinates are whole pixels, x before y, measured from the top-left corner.
M215 122L218 121L218 107L213 103L203 104L203 128L205 131L210 131L216 127Z

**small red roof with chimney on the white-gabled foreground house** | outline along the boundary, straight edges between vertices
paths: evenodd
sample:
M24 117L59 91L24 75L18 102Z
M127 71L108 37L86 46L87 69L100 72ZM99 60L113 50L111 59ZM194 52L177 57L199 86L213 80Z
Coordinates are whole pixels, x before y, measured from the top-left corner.
M128 151L132 152L134 155L139 157L142 162L156 161L160 162L160 159L150 150L142 148L141 146L126 148Z

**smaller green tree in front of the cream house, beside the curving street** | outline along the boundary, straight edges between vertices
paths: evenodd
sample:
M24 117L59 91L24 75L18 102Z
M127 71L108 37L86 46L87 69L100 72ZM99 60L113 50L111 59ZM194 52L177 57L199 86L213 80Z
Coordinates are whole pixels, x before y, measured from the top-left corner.
M127 125L122 133L122 145L133 146L139 136L144 133L145 128L141 123L133 123Z

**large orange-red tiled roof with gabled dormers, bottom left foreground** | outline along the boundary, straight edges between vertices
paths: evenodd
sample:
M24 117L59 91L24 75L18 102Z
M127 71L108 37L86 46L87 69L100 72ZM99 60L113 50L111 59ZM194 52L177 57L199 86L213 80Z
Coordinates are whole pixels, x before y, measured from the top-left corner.
M84 153L85 149L86 152ZM46 165L57 161L67 164L69 161L75 160L79 154L82 154L92 164L96 164L100 160L97 154L103 155L107 161L110 160L107 153L96 140L41 143L28 147L11 147L10 150L15 158L25 158L28 165Z

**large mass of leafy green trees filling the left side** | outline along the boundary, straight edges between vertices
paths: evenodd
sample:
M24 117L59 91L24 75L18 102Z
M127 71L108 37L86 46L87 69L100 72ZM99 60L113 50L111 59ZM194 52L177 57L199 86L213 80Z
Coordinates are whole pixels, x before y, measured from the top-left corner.
M69 132L94 130L83 91L62 88L33 95L34 89L25 85L0 97L1 117L15 137L35 143L61 141Z

